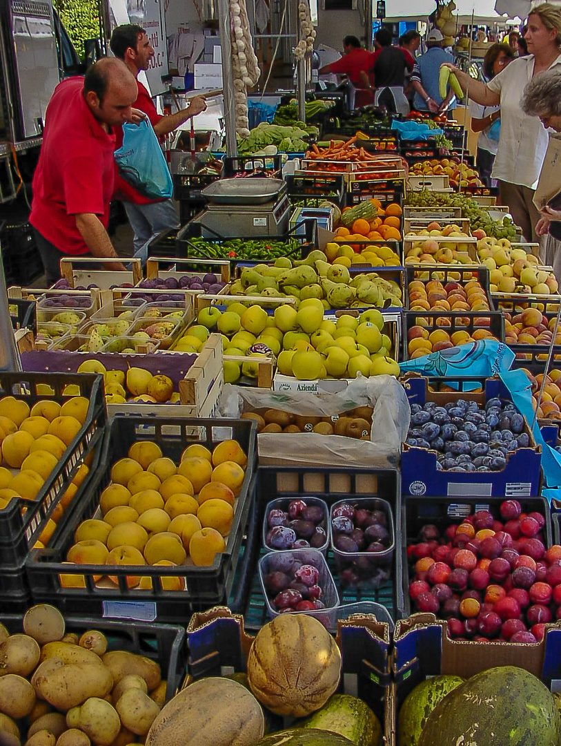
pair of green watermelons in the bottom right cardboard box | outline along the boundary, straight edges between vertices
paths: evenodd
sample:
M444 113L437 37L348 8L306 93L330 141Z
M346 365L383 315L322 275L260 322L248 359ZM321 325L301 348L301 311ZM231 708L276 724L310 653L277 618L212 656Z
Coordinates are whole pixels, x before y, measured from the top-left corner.
M554 746L558 707L557 695L516 665L487 668L466 680L435 676L419 683L402 704L397 746L455 746L466 736L479 746Z

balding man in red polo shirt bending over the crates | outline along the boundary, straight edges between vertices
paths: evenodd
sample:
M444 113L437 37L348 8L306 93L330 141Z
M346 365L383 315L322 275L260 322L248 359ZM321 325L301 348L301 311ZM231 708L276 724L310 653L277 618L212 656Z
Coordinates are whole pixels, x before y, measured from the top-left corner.
M33 178L29 222L34 227L48 285L60 278L65 256L116 257L107 234L115 185L115 133L139 122L137 87L121 60L105 58L85 78L54 89ZM111 269L124 270L112 263Z

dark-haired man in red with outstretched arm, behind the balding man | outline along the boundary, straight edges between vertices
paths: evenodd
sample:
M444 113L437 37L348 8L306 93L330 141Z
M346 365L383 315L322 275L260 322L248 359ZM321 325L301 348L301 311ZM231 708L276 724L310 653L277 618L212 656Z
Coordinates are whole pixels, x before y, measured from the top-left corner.
M177 130L191 116L195 116L206 109L204 97L194 96L186 109L168 114L168 116L157 113L150 93L138 81L139 72L148 69L150 60L154 56L153 48L142 26L136 24L117 26L111 34L110 48L115 57L123 60L136 78L139 95L134 105L148 116L154 132L160 140L170 132ZM120 148L123 142L122 129L116 133L116 136L116 147ZM166 231L168 228L179 227L177 211L171 199L154 200L145 197L120 177L118 178L118 189L123 197L124 209L127 212L130 225L133 227L135 251L139 251L152 236Z

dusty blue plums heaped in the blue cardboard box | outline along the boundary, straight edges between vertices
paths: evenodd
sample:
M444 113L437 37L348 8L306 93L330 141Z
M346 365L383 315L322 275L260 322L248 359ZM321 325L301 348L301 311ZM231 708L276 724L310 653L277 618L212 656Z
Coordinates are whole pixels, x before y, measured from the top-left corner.
M500 471L509 453L530 445L530 436L514 404L493 398L482 408L459 398L444 407L412 404L405 442L437 451L439 471Z

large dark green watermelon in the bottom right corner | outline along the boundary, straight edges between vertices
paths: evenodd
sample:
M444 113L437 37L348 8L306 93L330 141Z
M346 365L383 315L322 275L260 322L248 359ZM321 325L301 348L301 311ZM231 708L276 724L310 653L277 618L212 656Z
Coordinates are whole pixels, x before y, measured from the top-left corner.
M560 715L548 688L513 665L457 686L433 710L419 746L558 746Z

